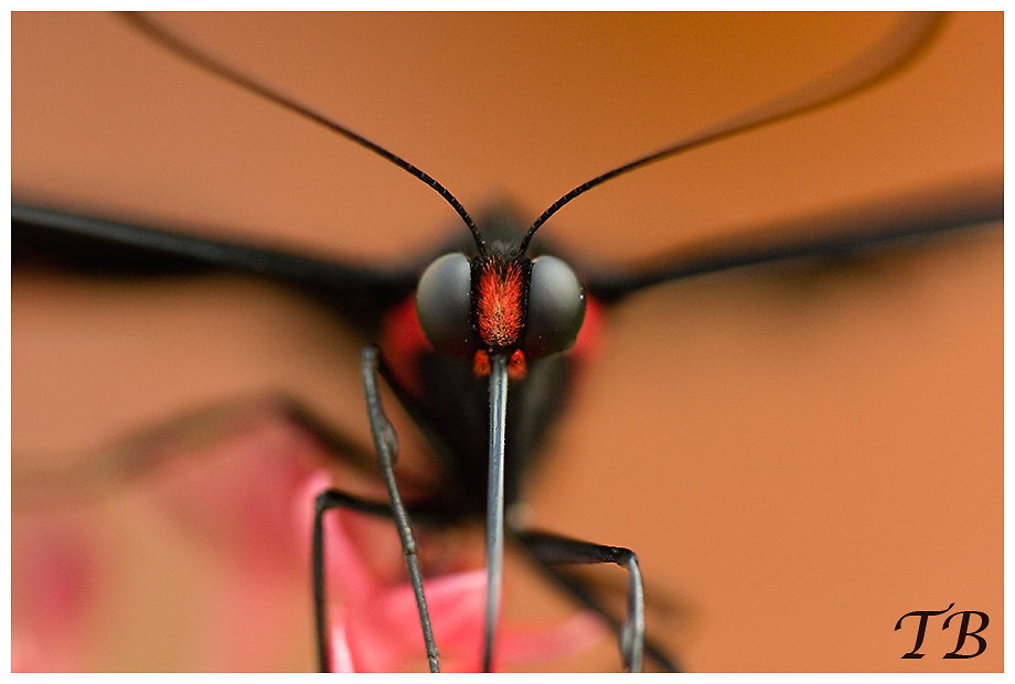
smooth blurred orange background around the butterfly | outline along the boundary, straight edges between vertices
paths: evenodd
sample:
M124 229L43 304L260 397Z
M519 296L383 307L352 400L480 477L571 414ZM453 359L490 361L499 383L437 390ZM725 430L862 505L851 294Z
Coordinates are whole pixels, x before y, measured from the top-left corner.
M509 197L535 217L592 175L829 71L894 17L165 20L473 212ZM455 226L421 183L111 15L15 13L11 33L20 201L371 263L418 255ZM544 229L581 256L630 261L1001 174L1002 54L1002 14L960 14L877 90L612 182ZM1002 246L991 229L624 302L531 483L534 521L635 549L650 590L676 605L662 638L692 671L1002 670ZM361 341L270 288L19 271L12 289L15 472L269 388L365 434ZM52 666L311 666L302 576L265 591L275 619L256 649L223 652L202 631L201 597L232 568L130 496L142 501L81 513L116 549L115 580L85 643L56 646ZM19 535L36 523L13 515L17 634ZM990 614L986 652L941 660L957 629L932 621L927 656L900 660L916 623L896 632L896 620L952 601Z

